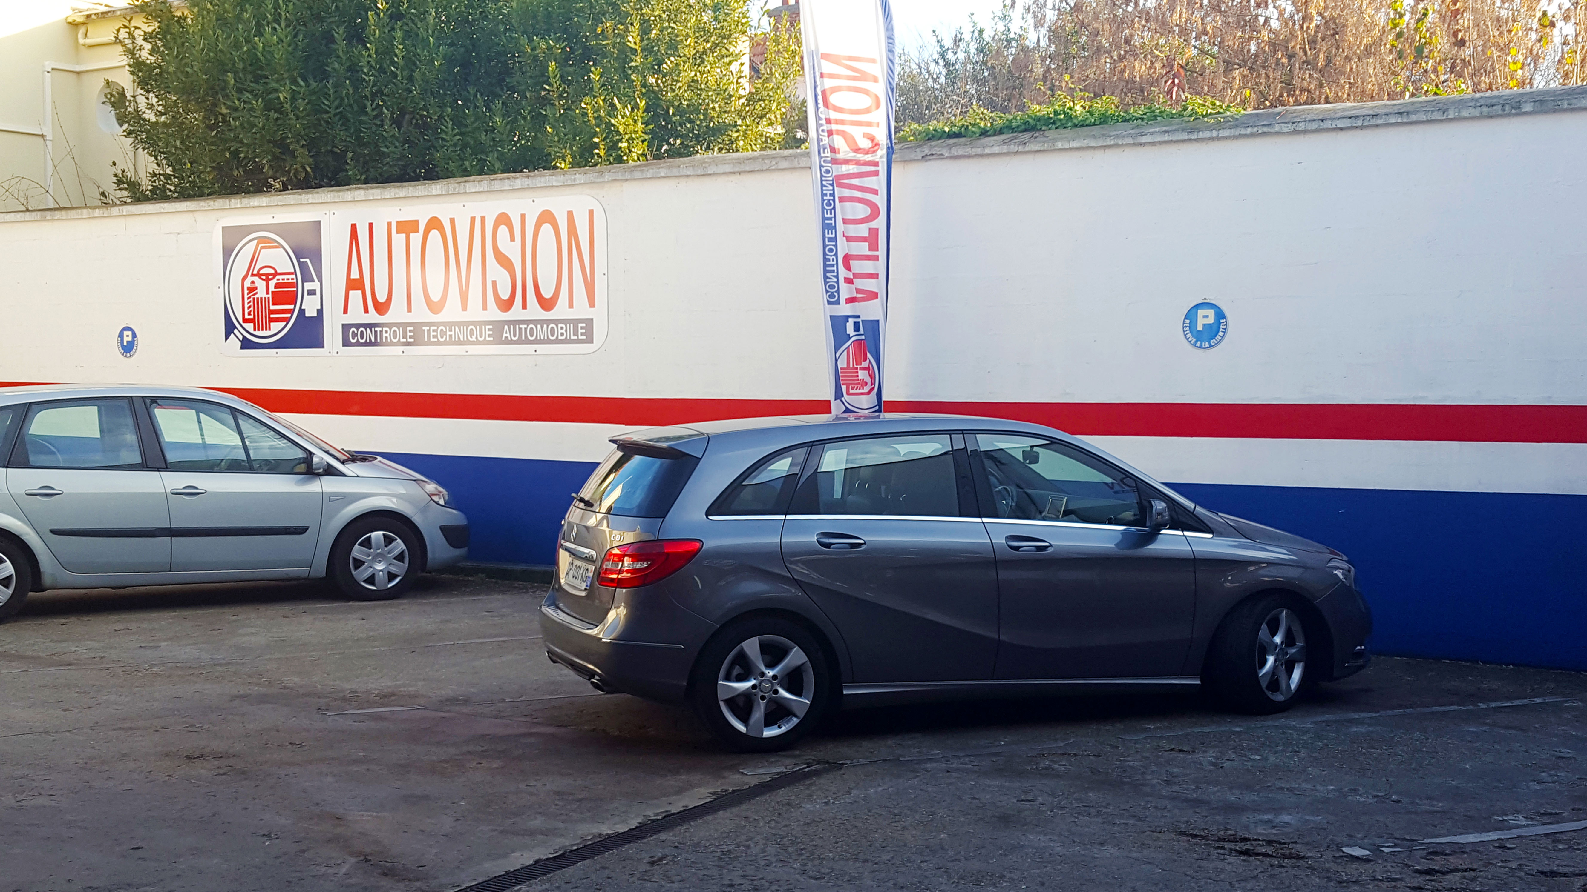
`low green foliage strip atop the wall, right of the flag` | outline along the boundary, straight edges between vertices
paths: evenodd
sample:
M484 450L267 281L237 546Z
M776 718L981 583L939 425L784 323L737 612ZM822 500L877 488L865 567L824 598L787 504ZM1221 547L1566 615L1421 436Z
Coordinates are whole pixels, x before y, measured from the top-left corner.
M1032 130L1066 130L1070 127L1095 127L1098 124L1127 124L1135 121L1206 119L1243 114L1246 110L1211 97L1185 97L1179 108L1149 103L1124 108L1114 97L1090 97L1086 94L1059 94L1047 105L1033 105L1025 111L1005 114L974 108L966 114L932 124L905 124L898 140L919 143L925 140L952 140L955 136L995 136L998 133L1027 133Z

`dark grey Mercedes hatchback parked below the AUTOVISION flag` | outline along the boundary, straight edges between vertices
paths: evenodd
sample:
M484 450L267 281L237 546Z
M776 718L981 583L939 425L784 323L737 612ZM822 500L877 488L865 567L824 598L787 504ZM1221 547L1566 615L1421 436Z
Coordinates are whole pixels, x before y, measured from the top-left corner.
M1276 713L1368 662L1343 554L984 417L770 417L614 438L562 525L548 656L741 751L832 709L1206 687Z

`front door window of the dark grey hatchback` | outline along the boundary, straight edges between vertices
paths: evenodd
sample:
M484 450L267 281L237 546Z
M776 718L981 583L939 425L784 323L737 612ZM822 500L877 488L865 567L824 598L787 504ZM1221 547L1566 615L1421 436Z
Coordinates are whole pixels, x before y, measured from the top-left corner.
M1036 436L978 433L995 517L1078 524L1141 524L1139 497L1124 476L1082 452Z

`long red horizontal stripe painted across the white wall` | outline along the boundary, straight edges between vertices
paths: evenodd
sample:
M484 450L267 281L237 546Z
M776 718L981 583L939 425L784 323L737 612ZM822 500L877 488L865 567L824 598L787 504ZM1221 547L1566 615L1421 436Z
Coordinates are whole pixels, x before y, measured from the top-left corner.
M16 386L16 384L0 384ZM824 400L671 400L368 394L216 387L270 411L651 427L690 421L825 414ZM992 403L890 400L893 411L1030 421L1081 436L1258 440L1443 440L1587 443L1587 406L1412 403Z

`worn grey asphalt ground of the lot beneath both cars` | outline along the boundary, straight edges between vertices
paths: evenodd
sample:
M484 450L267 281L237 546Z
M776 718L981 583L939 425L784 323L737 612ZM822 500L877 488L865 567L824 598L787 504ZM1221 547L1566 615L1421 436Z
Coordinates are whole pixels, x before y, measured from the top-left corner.
M1581 673L1381 659L1268 719L867 709L736 756L551 665L540 592L33 595L0 625L0 892L444 892L787 771L527 889L1587 889L1587 830L1422 843L1587 822Z

